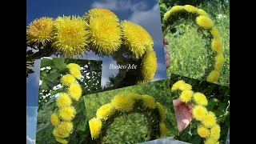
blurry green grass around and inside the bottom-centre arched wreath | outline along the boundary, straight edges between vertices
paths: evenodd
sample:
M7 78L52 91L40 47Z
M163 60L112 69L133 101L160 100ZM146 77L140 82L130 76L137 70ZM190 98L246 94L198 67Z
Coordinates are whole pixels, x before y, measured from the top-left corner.
M166 110L164 122L166 123L166 136L178 134L177 122L174 114L174 106L170 96L169 80L149 82L137 86L128 86L126 88L108 90L98 94L86 95L85 104L88 119L94 118L98 108L109 103L116 94L149 94L160 102ZM147 133L146 118L142 114L123 114L115 118L114 123L107 129L106 138L102 143L131 144L145 142Z

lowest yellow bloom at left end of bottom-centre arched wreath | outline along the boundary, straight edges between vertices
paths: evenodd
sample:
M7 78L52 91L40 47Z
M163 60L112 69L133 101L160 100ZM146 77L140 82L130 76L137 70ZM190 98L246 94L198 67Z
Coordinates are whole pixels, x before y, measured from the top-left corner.
M99 118L91 118L89 121L90 134L93 139L98 138L102 131L102 121Z

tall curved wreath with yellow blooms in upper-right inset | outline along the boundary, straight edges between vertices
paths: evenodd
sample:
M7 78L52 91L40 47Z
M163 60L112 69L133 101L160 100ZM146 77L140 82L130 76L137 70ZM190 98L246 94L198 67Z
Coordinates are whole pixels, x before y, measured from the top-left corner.
M217 82L219 71L224 64L224 56L222 54L221 37L218 34L218 29L214 26L214 22L208 17L208 14L194 6L173 6L164 14L162 18L162 30L166 35L170 29L178 25L179 18L195 19L199 32L206 38L206 51L207 51L207 66L204 74L199 79L206 80L207 82ZM204 33L206 31L206 34Z

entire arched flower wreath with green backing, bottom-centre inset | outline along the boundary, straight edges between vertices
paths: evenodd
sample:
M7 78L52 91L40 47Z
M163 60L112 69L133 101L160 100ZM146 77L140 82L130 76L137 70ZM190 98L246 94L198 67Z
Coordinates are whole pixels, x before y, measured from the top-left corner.
M143 114L149 123L146 141L160 138L166 134L163 122L165 110L159 102L148 94L119 94L110 103L98 108L96 117L89 121L90 134L94 142L101 143L106 135L106 128L114 122L114 118L122 114Z

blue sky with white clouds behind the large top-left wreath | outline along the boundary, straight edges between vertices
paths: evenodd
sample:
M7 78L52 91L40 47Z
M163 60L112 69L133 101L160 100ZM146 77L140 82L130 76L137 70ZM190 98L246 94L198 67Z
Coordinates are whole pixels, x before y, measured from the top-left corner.
M82 16L85 12L95 7L106 8L113 11L120 20L126 19L137 23L146 29L154 39L154 51L158 58L158 70L154 75L153 81L166 78L158 0L27 0L26 6L27 26L36 18L57 18L62 15ZM118 70L109 69L110 64L116 64L110 57L99 58L93 53L89 53L88 55L85 55L83 59L102 60L102 86L106 84L108 78L112 74L118 73ZM38 106L40 60L35 62L33 70L35 71L34 74L30 74L29 78L26 79L26 106ZM29 128L28 125L30 126ZM36 125L36 123L34 123L34 125ZM27 128L33 139L33 123L27 123Z

